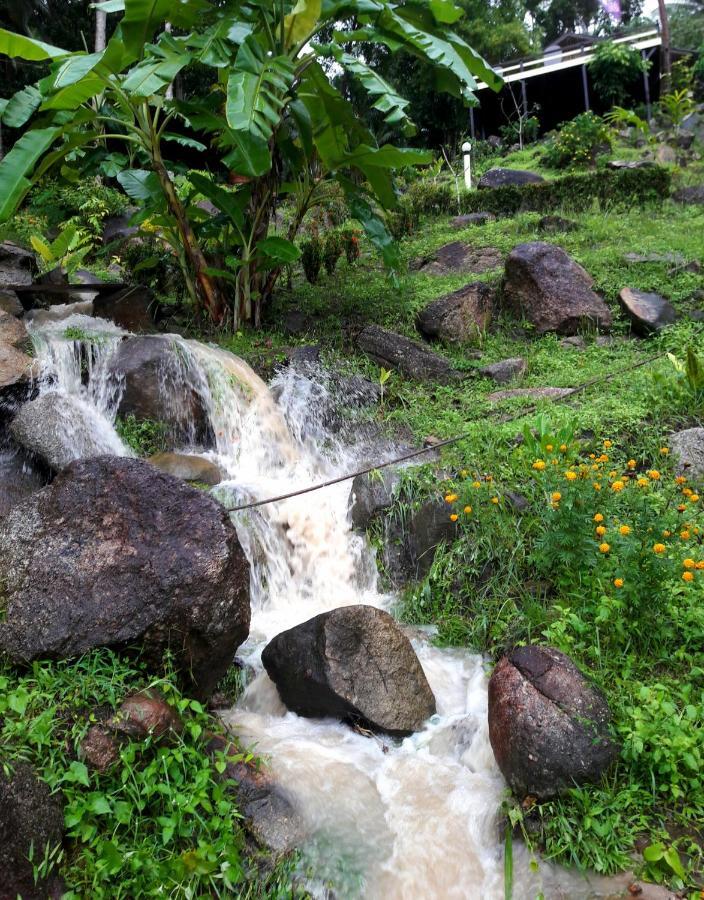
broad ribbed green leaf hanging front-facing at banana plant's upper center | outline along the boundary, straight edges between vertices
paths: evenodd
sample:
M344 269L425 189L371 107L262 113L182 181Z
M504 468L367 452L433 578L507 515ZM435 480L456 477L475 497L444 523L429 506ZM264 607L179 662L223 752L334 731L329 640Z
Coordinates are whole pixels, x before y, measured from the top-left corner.
M281 120L284 98L292 83L291 60L267 56L253 37L247 38L227 82L230 128L268 141Z

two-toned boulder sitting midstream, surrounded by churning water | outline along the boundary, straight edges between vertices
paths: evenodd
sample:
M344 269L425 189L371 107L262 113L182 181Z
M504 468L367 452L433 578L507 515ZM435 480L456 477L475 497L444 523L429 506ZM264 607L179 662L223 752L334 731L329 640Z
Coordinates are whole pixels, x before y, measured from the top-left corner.
M343 606L278 634L262 662L288 709L403 736L435 713L411 642L373 606Z

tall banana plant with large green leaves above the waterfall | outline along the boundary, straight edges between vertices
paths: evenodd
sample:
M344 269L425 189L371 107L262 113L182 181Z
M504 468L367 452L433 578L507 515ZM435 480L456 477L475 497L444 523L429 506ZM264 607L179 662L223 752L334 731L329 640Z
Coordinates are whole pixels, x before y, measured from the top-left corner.
M387 123L407 136L414 133L407 103L365 63L365 43L429 62L438 90L467 103L475 102L477 79L501 86L453 32L462 15L453 0L104 0L94 6L121 14L96 53L70 53L0 29L0 53L49 65L46 77L2 110L4 124L31 124L0 163L0 222L50 169L75 168L101 153L113 167L118 160L117 179L143 207L140 217L177 244L197 308L234 328L259 323L278 273L298 255L296 232L325 181L341 185L351 214L394 264L383 222L383 211L397 202L393 173L429 157L378 146L329 71L357 79ZM351 27L341 30L343 23ZM350 52L355 46L358 52ZM172 99L174 79L196 66L210 72L209 90ZM204 222L189 202L193 195L176 188L179 145L208 152L210 171L187 179L216 207L215 222ZM296 198L296 213L284 238L270 229L287 194Z

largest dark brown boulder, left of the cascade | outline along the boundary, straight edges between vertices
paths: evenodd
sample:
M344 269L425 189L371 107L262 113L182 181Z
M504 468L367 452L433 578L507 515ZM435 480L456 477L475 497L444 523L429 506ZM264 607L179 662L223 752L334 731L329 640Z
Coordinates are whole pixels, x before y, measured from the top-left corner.
M69 465L0 523L0 649L15 662L167 649L200 696L249 632L249 565L225 510L146 462Z

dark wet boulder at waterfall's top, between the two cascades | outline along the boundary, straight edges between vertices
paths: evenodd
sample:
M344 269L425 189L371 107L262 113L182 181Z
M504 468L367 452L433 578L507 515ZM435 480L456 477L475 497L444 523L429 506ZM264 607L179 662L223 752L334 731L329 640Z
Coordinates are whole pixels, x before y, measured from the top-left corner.
M119 415L164 422L194 438L207 432L202 397L173 337L144 335L123 341L110 360L109 377L121 386Z

